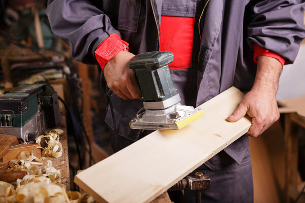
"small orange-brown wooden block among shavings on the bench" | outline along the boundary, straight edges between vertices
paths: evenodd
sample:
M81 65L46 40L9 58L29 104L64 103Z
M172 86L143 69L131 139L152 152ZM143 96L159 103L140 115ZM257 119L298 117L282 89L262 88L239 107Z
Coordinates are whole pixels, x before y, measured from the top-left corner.
M9 151L3 156L3 162L10 161L12 159L20 160L20 153L23 151L28 151L31 153L32 150L40 147L40 144L20 144L16 146L12 146L9 148ZM40 158L40 148L33 151L33 155L37 158Z

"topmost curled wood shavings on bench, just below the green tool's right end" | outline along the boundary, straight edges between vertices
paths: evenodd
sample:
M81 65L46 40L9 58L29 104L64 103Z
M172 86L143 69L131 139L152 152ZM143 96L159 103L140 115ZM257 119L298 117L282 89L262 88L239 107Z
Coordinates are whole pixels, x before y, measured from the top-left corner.
M41 139L47 138L49 141L46 141L47 147L45 147L42 152L41 156L50 155L54 158L58 158L63 154L63 146L62 143L59 142L59 134L64 133L62 129L54 129L49 131L46 135L39 136L36 138L36 143L40 144Z

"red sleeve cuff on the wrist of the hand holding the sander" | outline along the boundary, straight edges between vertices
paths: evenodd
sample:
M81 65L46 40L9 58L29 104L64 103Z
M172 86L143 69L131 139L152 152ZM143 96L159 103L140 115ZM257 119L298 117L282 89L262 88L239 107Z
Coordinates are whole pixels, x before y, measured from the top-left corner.
M106 63L113 58L118 52L121 50L128 51L129 44L120 39L116 32L109 35L108 38L103 40L101 44L97 47L94 52L95 57L100 64L102 70L104 71L104 67Z

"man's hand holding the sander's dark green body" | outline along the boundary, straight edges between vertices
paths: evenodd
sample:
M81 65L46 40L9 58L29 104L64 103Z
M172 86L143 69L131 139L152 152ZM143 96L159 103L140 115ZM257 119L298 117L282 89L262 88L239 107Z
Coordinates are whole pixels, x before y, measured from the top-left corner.
M104 76L108 87L125 100L141 99L142 97L135 71L128 67L128 61L132 57L134 54L120 51L104 67Z

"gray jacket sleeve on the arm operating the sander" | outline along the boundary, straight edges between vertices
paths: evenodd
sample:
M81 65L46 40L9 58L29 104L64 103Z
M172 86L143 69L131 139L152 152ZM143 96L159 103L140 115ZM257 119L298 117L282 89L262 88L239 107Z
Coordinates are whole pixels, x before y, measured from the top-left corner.
M94 51L113 32L109 17L88 0L49 0L51 29L71 49L74 59L97 64Z

